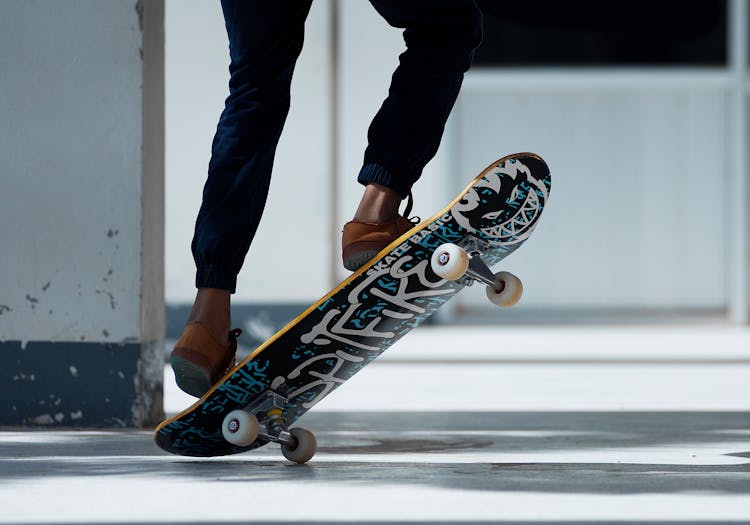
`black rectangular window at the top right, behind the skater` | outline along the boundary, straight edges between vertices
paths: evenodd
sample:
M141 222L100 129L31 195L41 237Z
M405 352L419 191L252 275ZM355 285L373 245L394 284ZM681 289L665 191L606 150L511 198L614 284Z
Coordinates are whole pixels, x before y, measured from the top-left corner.
M479 0L479 67L725 66L727 2Z

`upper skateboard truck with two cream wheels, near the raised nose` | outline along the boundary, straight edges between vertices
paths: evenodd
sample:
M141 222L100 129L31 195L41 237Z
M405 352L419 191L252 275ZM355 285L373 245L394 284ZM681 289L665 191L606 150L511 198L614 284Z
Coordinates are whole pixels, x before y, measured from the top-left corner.
M521 280L510 272L492 273L482 254L490 244L475 235L467 235L457 243L437 247L430 260L432 270L443 279L462 286L474 282L487 285L487 298L497 306L513 306L523 294Z

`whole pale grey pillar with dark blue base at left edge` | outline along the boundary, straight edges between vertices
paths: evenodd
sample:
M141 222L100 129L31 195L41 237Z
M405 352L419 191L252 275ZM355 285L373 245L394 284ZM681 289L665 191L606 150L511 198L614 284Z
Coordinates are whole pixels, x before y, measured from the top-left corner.
M0 425L150 425L163 0L0 0L0 13Z

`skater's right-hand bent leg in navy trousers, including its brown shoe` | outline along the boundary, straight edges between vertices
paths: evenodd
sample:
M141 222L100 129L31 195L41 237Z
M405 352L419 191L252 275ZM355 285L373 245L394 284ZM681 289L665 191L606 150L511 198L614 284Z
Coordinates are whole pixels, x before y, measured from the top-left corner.
M368 130L357 179L365 190L342 236L349 270L413 226L399 215L399 205L437 152L482 35L481 12L473 0L371 3L390 25L405 29L406 51Z

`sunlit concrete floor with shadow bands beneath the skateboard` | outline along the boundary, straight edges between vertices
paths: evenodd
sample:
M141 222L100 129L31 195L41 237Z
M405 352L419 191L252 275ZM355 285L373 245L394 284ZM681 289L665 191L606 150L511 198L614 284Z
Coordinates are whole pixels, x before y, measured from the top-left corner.
M748 523L749 351L721 328L420 329L300 422L304 466L0 432L0 522Z

